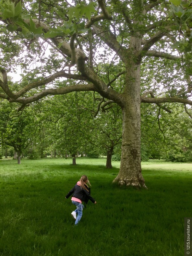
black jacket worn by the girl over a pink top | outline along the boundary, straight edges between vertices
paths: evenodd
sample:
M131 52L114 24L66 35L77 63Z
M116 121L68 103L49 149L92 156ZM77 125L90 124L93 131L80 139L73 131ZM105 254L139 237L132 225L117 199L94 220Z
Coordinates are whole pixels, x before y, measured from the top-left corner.
M89 190L90 191L90 190ZM93 199L90 196L90 192L88 192L86 189L81 189L81 186L78 186L77 184L75 187L73 187L69 193L66 195L66 198L69 198L73 194L73 197L76 197L80 199L81 201L84 201L85 203L88 203L90 200L92 203L95 202L95 199Z

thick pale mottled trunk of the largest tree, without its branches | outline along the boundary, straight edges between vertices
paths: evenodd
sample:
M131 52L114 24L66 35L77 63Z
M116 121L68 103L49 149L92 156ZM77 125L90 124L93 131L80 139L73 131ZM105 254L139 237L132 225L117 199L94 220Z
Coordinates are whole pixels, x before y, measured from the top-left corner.
M141 174L140 157L140 68L133 64L127 67L126 86L122 107L123 134L121 164L118 176L113 182L141 188L145 186Z

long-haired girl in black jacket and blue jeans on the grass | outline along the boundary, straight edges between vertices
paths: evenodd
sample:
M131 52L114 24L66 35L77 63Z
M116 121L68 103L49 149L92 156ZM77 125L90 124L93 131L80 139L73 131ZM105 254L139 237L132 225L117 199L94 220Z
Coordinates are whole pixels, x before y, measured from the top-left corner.
M82 201L87 203L90 200L92 203L97 203L95 199L90 196L90 189L87 184L91 186L88 177L86 175L81 176L75 187L73 187L65 197L67 199L73 194L71 201L76 205L77 209L73 211L71 215L75 219L75 225L78 225L83 215L84 205Z

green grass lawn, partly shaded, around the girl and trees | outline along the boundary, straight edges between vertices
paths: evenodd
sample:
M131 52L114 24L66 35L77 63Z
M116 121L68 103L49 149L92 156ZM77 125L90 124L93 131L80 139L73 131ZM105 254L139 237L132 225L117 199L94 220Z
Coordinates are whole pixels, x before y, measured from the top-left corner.
M0 161L0 255L180 256L191 217L192 164L142 163L148 190L112 185L106 159ZM86 174L97 204L77 227L65 195Z

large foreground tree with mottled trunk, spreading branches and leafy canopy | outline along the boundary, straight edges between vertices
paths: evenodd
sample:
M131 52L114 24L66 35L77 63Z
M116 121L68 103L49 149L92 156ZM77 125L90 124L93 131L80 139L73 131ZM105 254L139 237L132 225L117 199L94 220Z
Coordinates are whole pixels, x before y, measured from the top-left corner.
M0 97L20 103L19 110L47 95L72 91L95 91L107 104L118 104L123 132L120 171L114 182L145 188L140 163L140 104L154 103L164 109L164 103L192 105L191 3L171 2L50 1L38 5L2 1L1 48L6 39L10 51L2 52L5 63ZM51 48L48 57L47 43ZM23 75L19 90L15 90L7 83L5 69L9 62L11 70L18 56L23 58L18 61ZM113 68L99 69L99 62ZM149 63L154 70L160 63L170 68L163 69L163 81L155 72L141 90L141 69L148 70ZM65 78L62 87L58 78ZM106 102L102 100L100 106Z

